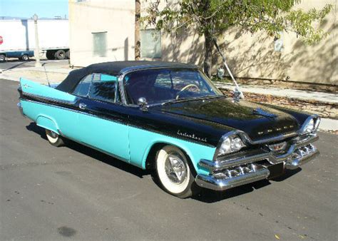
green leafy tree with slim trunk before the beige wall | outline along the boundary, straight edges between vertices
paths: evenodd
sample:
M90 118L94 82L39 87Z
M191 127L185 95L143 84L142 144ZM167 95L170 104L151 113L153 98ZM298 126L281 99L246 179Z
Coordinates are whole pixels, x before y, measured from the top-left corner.
M295 32L307 44L327 36L314 24L323 21L332 5L305 12L295 9L299 3L300 0L148 0L142 21L167 32L193 26L205 38L204 71L211 76L213 45L217 46L217 37L230 27L251 34L265 31L272 37L279 37L282 31Z

